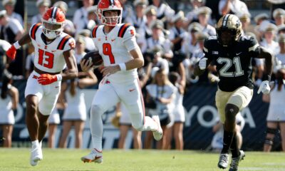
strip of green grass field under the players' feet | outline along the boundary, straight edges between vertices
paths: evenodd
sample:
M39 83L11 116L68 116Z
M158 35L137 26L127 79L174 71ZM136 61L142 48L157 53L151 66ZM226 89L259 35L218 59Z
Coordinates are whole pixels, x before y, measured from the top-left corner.
M219 170L218 153L175 150L105 150L103 164L83 163L80 158L89 150L43 149L43 160L36 167L29 165L28 148L0 148L0 170ZM283 152L246 152L239 170L285 170Z

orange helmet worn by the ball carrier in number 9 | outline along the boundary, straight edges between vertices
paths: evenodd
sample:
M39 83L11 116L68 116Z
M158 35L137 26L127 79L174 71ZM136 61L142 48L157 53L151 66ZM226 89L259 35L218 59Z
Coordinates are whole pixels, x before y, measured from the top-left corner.
M98 17L101 24L115 26L122 22L123 8L118 0L100 0L98 2ZM118 16L105 16L105 11L118 11Z

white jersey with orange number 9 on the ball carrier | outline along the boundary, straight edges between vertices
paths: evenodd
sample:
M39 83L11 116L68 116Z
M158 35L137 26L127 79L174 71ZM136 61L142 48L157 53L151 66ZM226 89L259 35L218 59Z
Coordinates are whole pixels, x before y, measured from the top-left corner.
M130 24L118 24L110 33L105 34L103 25L95 26L92 31L93 42L103 57L104 66L115 66L133 59L129 51L138 47L135 41L135 28ZM118 71L108 76L114 83L124 83L138 78L137 69Z

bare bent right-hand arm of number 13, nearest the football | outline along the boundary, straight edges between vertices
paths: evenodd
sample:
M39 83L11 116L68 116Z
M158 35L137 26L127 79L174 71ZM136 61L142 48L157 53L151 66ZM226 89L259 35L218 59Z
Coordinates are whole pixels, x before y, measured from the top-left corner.
M76 58L73 55L73 50L63 52L64 59L68 70L65 73L61 73L62 79L69 80L78 77L78 69L76 65Z

